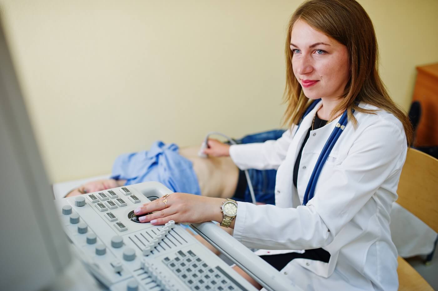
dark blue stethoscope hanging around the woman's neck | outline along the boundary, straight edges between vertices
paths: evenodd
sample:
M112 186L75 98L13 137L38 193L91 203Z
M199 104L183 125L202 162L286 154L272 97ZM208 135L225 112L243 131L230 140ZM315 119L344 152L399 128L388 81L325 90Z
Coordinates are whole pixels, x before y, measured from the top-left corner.
M301 121L303 121L304 117L306 117L307 114L309 114L310 111L318 104L318 102L321 99L314 100L312 104L306 109L304 112L303 118L301 118ZM352 111L354 112L354 110ZM301 121L298 124L298 128L300 128ZM310 176L309 183L307 183L306 192L304 192L304 199L303 199L303 205L306 205L309 200L311 200L314 197L315 194L315 188L316 183L318 182L319 175L321 174L322 167L324 167L324 163L329 157L330 152L333 149L333 146L335 146L335 143L338 141L339 136L344 131L344 128L348 122L347 119L347 111L345 111L339 121L336 123L335 128L332 131L332 134L329 136L329 139L327 139L327 142L325 142L324 147L322 148L321 154L318 157L318 160L316 161L316 165L313 169L313 172ZM295 133L298 132L298 128L295 131Z

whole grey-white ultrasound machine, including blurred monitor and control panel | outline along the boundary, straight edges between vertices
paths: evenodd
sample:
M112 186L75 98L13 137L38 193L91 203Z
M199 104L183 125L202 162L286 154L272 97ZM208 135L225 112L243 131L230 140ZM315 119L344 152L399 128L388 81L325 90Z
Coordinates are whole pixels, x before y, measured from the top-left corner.
M54 200L1 25L0 140L0 290L256 290L180 224L137 221L162 184ZM266 290L299 290L213 222L190 227Z

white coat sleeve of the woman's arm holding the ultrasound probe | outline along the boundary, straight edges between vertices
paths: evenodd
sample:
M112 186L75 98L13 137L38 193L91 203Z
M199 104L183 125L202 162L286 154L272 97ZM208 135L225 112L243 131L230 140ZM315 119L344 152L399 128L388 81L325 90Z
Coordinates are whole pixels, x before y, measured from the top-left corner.
M230 157L240 170L277 169L286 157L292 141L291 132L294 132L296 127L295 125L291 130L286 130L277 140L231 145Z

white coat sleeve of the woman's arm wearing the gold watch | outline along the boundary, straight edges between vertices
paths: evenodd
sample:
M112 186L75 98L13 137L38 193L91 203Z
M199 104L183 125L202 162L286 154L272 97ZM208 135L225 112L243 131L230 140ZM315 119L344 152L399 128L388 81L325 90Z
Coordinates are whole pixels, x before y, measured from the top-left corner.
M332 177L320 181L307 206L279 208L239 202L233 236L247 247L259 249L327 246L378 187L398 172L403 155L404 132L387 121L371 125L334 167Z

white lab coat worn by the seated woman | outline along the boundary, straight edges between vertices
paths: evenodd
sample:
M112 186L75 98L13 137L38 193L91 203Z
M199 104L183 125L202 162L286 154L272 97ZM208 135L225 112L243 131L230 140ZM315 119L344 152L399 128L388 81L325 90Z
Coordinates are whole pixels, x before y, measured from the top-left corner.
M276 206L238 202L233 236L247 247L274 250L270 254L328 251L328 263L299 258L283 268L304 290L397 290L389 213L406 158L403 125L385 111L355 112L357 129L351 122L346 125L321 171L314 198L302 206L314 165L339 121L311 131L296 188L295 160L320 106L303 119L298 131L293 126L276 141L231 146L230 156L241 170L278 169Z

